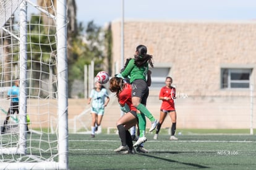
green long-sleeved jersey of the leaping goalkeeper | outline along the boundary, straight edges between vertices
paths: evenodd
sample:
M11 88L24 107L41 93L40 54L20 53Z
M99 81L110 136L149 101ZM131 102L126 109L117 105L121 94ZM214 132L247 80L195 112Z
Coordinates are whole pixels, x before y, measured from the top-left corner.
M129 63L126 66L126 69L122 71L122 77L128 77L130 76L130 83L132 83L134 80L142 79L147 80L147 72L148 72L148 62L142 67L137 67L134 64L134 59L130 59Z

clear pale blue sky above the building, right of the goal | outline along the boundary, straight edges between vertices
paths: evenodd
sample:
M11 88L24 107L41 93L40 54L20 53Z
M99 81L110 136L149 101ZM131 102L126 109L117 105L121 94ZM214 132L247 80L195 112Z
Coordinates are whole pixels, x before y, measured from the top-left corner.
M123 0L76 0L77 20L121 19ZM124 0L124 19L255 20L256 0Z

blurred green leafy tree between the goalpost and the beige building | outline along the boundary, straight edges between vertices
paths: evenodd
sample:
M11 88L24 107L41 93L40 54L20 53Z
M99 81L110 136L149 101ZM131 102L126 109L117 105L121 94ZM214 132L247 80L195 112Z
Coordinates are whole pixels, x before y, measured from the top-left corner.
M93 21L88 22L87 27L83 28L82 23L79 25L80 36L78 36L72 46L74 63L71 66L70 74L75 79L84 79L83 67L85 64L95 62L95 72L97 74L103 69L104 53L104 32ZM83 35L85 31L85 35Z

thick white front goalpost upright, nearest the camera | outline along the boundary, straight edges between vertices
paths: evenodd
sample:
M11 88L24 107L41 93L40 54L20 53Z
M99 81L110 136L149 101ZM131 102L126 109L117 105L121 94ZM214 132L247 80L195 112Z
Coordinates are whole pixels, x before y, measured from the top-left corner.
M57 0L57 61L58 61L58 124L59 124L59 169L68 167L68 124L67 124L67 14L66 0Z

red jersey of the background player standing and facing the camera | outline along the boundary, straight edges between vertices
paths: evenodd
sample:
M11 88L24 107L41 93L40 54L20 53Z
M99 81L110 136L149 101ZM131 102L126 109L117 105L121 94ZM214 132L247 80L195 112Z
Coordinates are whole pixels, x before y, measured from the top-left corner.
M176 89L174 87L162 87L160 90L159 96L171 98L170 100L163 100L161 104L161 110L173 111L175 110L174 98L175 98Z

